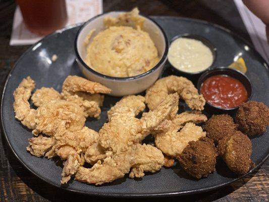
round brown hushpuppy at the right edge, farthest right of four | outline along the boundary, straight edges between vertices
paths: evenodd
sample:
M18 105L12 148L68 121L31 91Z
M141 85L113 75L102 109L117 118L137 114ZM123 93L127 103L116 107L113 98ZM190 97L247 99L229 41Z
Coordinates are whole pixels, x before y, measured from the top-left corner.
M264 133L269 125L269 108L256 101L244 103L236 113L236 123L244 134Z

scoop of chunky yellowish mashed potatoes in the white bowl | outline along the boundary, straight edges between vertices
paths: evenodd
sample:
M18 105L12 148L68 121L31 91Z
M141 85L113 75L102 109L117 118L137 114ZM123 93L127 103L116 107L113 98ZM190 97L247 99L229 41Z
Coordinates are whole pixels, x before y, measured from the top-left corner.
M117 18L105 18L106 29L90 44L93 31L88 34L85 44L89 67L108 76L130 77L147 72L158 63L157 48L142 30L144 18L138 13L138 9L134 9Z

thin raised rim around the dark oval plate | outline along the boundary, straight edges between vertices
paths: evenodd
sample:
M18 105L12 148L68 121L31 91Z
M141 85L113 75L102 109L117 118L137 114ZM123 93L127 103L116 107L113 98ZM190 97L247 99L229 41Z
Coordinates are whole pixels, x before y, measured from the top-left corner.
M231 31L230 29L228 28L225 28L221 25L218 25L218 24L214 24L214 23L211 23L211 22L208 22L208 21L204 21L204 20L199 20L199 19L194 19L194 18L186 18L186 17L176 17L176 16L150 16L151 18L153 19L176 19L176 20L185 20L185 21L192 21L192 22L198 22L198 23L202 23L202 24L206 24L206 25L210 25L210 26L213 26L213 27L216 27L218 29L221 29L222 31L225 31L225 32L228 32L229 34L235 36L236 38L239 38L240 40L242 40L244 43L246 43L256 54L259 58L262 59L262 61L264 61L264 67L267 69L267 73L269 74L269 69L268 69L268 64L267 62L263 59L263 57L256 51L256 49L254 48L254 46L249 42L247 41L245 38L243 38L242 36L240 36L239 34ZM52 186L55 186L55 187L58 187L60 188L61 190L66 190L66 191L71 191L73 193L80 193L80 194L84 194L84 195L93 195L93 196L105 196L105 197L123 197L123 198L130 198L130 197L136 197L136 198L142 198L142 197L172 197L172 196L178 196L178 195L190 195L190 194L196 194L196 193L202 193L202 192L208 192L208 191L212 191L212 190L216 190L218 188L221 188L221 187L224 187L224 186L227 186L245 176L247 176L248 174L251 174L253 173L253 171L257 168L259 168L269 157L269 153L266 155L266 157L258 164L258 165L255 165L254 168L252 168L248 173L242 175L242 176L239 176L238 178L235 178L229 182L225 182L225 183L222 183L222 184L218 184L218 185L215 185L215 186L210 186L210 187L205 187L205 188L200 188L200 189L195 189L195 190L189 190L189 191L174 191L174 192L163 192L163 193L142 193L142 194L136 194L136 193L124 193L124 194L121 194L121 193L96 193L96 192L90 192L90 191L81 191L81 190L77 190L77 189L72 189L72 188L69 188L69 187L63 187L59 184L55 184L55 183L52 183L49 179L45 179L44 177L42 176L39 176L37 173L35 173L33 170L31 170L19 157L18 155L16 154L15 150L13 149L13 147L11 146L11 143L9 141L9 138L8 138L8 135L6 133L6 130L5 130L5 126L3 124L3 100L4 100L4 95L6 94L6 87L7 87L7 84L9 82L9 79L14 71L14 69L16 68L16 66L18 65L18 63L22 60L22 58L32 50L32 48L37 45L39 42L41 42L43 39L47 38L47 37L51 37L53 35L57 35L59 33L62 33L63 31L66 31L68 29L71 29L71 28L75 28L75 27L78 27L78 26L81 26L83 25L85 22L83 23L77 23L75 25L70 25L70 26L67 26L63 29L60 29L60 30L57 30L56 32L53 32L47 36L45 36L44 38L40 39L39 41L37 41L36 43L34 43L33 45L31 45L20 57L19 59L16 61L16 63L14 64L14 66L12 67L12 69L10 70L10 72L8 73L7 77L6 77L6 81L5 81L5 85L4 85L4 88L3 88L3 91L2 91L2 97L1 97L1 108L0 108L0 111L1 111L1 129L2 129L2 132L3 132L3 136L5 137L5 140L7 142L7 144L9 145L9 148L12 150L12 153L15 155L15 157L17 158L17 160L28 170L30 171L32 174L34 174L37 178L43 180L44 182L52 185Z

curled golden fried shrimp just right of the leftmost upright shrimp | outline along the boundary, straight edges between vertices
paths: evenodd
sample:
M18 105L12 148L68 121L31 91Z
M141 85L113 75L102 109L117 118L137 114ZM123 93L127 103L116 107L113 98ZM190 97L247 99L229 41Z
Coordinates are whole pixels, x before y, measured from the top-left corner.
M82 109L66 100L51 101L36 110L36 130L34 134L44 133L53 135L61 121L65 121L65 127L70 131L81 130L85 124Z

